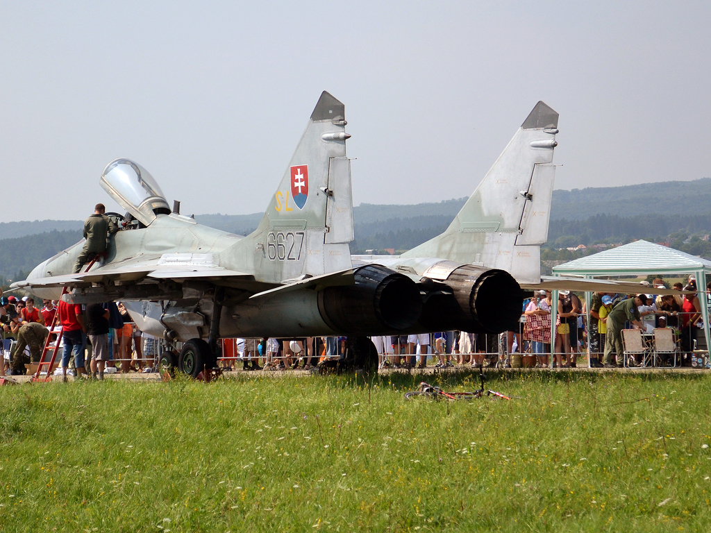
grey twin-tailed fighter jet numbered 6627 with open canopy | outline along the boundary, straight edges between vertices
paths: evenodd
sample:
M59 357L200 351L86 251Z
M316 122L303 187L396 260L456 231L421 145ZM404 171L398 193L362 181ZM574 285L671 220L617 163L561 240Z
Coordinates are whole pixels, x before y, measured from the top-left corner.
M151 174L119 158L100 184L122 228L87 272L83 242L15 284L41 298L123 301L138 327L183 348L197 376L220 338L500 333L540 284L558 114L538 102L447 230L400 256L351 256L353 201L345 108L323 92L257 230L245 237L171 210ZM357 344L364 364L372 343ZM356 350L358 351L358 350Z

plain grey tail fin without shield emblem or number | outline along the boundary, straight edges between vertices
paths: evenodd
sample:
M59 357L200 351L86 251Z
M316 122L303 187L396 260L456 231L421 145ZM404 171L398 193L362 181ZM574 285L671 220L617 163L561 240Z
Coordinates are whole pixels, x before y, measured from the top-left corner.
M538 102L447 231L407 257L442 257L540 280L540 245L548 237L558 114Z

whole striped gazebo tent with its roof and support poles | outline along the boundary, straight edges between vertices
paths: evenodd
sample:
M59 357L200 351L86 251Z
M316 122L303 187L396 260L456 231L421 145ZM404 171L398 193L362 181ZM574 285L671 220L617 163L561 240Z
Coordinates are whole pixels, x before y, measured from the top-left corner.
M706 276L711 274L711 261L695 257L680 250L662 246L645 240L638 240L599 252L598 254L574 259L553 267L553 276L579 276L592 279L600 276L631 276L639 274L693 274L699 294L706 294ZM644 289L644 290L642 290ZM640 287L639 292L654 292L654 289ZM590 293L585 293L587 309L590 308ZM709 334L709 316L707 299L701 300L701 315L704 321L704 334L707 350L711 348ZM557 291L553 293L552 342L555 345L555 316L557 314ZM589 316L588 316L589 318ZM553 348L553 346L551 346Z

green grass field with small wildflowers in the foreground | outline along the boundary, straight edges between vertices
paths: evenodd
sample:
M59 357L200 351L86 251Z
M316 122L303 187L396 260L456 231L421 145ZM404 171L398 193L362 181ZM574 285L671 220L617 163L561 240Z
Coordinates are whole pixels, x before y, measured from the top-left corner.
M1 387L0 531L709 529L710 375L489 377Z

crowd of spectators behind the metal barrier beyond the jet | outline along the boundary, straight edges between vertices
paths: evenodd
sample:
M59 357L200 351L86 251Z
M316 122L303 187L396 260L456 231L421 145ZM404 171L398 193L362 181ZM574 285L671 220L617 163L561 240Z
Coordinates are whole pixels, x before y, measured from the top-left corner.
M665 289L661 279L645 286ZM535 291L523 303L519 327L506 333L477 334L462 331L372 337L378 352L378 368L424 369L464 365L511 365L513 353L535 357L536 367L577 367L586 354L591 367L623 365L621 332L638 328L651 334L655 328L672 328L680 345L680 364L689 365L702 327L702 310L696 281L674 284L678 295L593 293L589 308L570 291L560 291L556 303L555 336L552 335L552 293ZM684 291L684 292L682 292ZM707 286L711 294L711 284ZM711 308L711 300L707 299ZM55 315L57 316L55 320ZM38 308L31 296L0 298L5 365L0 375L21 375L27 364L40 360L47 337L63 332L61 373L103 379L105 372L157 370L159 340L141 333L126 308L119 303L87 306L44 300ZM53 326L53 327L52 327ZM551 350L551 342L555 345ZM228 370L302 369L340 358L346 352L346 337L302 339L225 339L220 361ZM549 357L553 352L553 360ZM46 357L47 359L47 357ZM89 363L89 371L86 370Z

